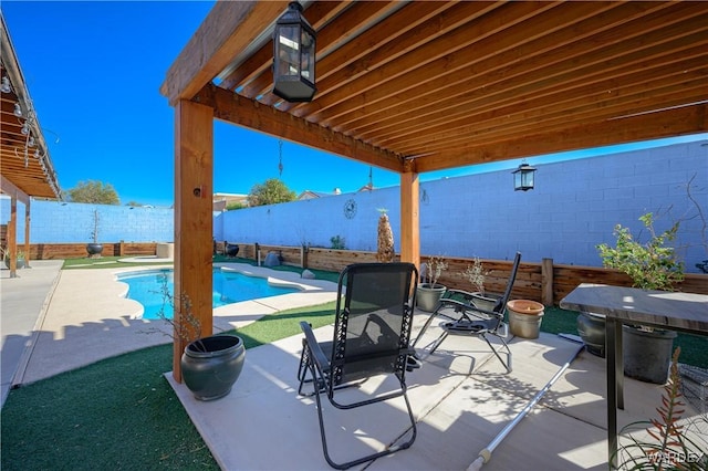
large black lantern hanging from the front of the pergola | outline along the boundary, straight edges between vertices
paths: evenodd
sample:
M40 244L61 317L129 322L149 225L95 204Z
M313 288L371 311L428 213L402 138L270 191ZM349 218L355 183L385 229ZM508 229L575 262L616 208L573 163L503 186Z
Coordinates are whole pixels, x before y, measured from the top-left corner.
M314 80L316 34L296 1L288 6L273 32L273 93L288 102L310 102Z

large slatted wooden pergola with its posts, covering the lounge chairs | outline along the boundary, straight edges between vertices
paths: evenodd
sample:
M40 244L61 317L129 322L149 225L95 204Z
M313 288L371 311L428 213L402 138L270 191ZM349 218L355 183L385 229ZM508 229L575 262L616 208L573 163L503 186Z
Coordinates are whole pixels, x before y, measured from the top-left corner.
M302 2L317 93L299 104L271 93L288 3L218 2L160 88L176 108L175 290L202 335L214 119L398 172L400 255L415 263L421 172L708 127L705 2Z

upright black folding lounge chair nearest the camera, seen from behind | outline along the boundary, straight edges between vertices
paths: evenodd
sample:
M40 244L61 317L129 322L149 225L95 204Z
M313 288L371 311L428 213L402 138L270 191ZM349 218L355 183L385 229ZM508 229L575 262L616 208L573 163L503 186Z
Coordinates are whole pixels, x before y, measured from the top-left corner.
M413 354L408 346L415 305L418 271L413 263L356 263L348 265L339 281L334 341L319 343L311 326L300 323L305 334L298 379L298 393L312 384L317 405L322 449L327 463L336 469L353 465L406 449L416 439L416 423L406 395L406 360ZM345 290L344 290L344 286ZM345 294L343 295L343 291ZM364 400L343 404L337 391L361 385L369 377L392 375L399 381L393 390ZM320 396L326 394L339 409L353 409L403 396L408 408L412 437L402 444L353 461L337 463L327 451ZM341 395L340 395L341 396Z

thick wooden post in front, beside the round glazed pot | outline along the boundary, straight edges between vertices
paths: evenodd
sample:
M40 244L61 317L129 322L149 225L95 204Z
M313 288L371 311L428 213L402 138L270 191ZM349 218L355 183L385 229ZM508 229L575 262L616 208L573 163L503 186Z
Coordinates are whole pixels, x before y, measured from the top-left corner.
M214 222L214 109L189 101L175 108L175 342L173 376L181 383L180 338L186 303L200 323L196 336L214 333L211 252ZM184 329L183 329L184 331Z

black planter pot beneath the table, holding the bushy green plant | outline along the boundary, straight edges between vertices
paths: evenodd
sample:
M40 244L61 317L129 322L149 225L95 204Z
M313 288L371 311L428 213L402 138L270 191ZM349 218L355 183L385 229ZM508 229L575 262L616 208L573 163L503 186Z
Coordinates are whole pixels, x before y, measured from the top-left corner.
M641 331L622 327L624 374L645 383L663 385L674 353L674 331Z

